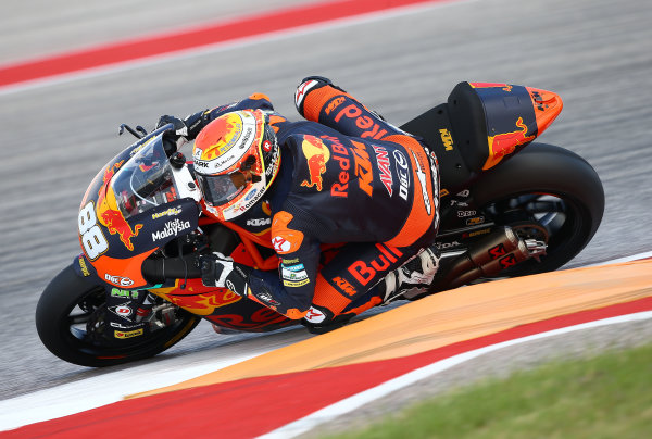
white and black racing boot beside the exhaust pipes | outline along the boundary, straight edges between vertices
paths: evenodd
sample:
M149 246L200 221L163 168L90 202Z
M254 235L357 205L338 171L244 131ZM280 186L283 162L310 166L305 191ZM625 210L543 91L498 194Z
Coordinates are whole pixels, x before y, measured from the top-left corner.
M381 305L397 299L414 299L425 294L439 269L439 251L427 248L378 284Z

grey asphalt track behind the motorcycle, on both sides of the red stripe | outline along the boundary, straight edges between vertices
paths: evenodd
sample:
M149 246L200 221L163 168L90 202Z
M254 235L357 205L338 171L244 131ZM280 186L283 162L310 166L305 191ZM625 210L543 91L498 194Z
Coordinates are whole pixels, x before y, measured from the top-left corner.
M53 10L25 1L0 17L0 62L250 13L254 4L216 3L72 1ZM564 111L541 140L587 159L606 193L598 234L568 267L652 251L650 23L647 0L461 1L0 92L0 399L104 373L53 358L38 340L34 311L47 283L79 252L76 218L87 185L130 142L117 126L149 129L161 114L183 116L254 91L298 120L294 87L311 74L333 78L396 124L442 102L461 80L560 93ZM218 355L225 343L264 339L220 337L200 325L167 355Z

